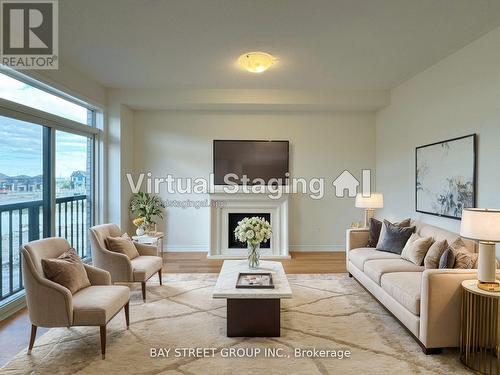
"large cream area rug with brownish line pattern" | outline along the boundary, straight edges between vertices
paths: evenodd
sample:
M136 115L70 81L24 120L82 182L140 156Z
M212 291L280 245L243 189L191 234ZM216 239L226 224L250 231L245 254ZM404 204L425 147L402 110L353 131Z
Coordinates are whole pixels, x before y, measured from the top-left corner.
M216 274L165 274L163 286L157 280L149 284L146 303L140 287L132 287L130 329L123 313L109 323L105 360L97 327L55 328L36 341L31 356L19 353L0 373L468 373L457 350L424 355L399 323L343 274L289 275L293 298L282 301L281 337L228 338L225 300L211 297L216 279Z

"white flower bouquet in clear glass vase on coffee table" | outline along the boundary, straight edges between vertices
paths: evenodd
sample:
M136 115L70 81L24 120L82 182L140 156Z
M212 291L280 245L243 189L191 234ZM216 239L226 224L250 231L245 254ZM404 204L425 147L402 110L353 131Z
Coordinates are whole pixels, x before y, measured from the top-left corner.
M260 244L261 242L267 242L272 233L271 224L264 218L245 217L243 220L238 221L234 236L238 241L247 243L248 266L250 268L259 268Z

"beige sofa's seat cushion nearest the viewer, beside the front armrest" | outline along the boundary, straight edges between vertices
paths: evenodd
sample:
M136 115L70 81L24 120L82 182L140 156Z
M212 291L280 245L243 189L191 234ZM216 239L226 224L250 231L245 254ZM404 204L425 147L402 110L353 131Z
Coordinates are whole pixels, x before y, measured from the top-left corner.
M382 276L380 286L411 313L420 316L422 272L393 272Z

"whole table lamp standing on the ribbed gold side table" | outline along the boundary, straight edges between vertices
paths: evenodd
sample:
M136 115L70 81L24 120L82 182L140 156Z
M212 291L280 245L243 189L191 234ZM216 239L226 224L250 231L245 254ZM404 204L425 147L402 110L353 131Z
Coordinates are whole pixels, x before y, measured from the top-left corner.
M495 256L495 242L500 242L500 210L464 209L460 235L479 241L478 288L500 292L500 282L496 279Z

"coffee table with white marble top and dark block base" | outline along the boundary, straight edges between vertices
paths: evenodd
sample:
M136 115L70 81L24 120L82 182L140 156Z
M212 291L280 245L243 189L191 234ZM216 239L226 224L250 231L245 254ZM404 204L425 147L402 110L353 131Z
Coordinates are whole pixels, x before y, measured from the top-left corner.
M274 289L238 289L240 272L270 272ZM212 297L227 300L228 337L279 337L281 299L292 298L292 290L280 262L261 261L255 270L247 260L225 260Z

